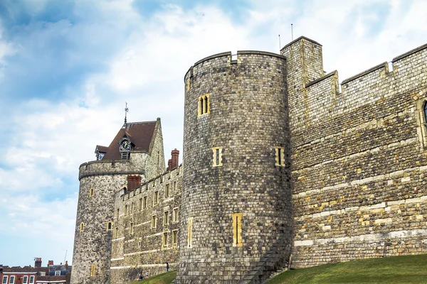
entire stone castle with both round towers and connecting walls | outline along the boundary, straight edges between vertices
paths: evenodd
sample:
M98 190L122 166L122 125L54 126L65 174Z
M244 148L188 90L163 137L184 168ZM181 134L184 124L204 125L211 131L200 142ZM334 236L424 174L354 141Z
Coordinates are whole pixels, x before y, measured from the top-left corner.
M391 68L392 67L392 70ZM160 119L80 165L71 283L262 283L280 268L427 253L427 45L342 81L322 45L220 53L184 77L184 151ZM390 68L390 69L389 69Z

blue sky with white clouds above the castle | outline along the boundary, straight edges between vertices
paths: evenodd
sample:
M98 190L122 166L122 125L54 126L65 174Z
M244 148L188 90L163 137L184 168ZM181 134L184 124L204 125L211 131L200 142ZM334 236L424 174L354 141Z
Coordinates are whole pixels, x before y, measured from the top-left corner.
M0 263L72 260L78 166L128 121L182 149L183 78L224 51L305 35L340 82L427 42L427 2L0 1Z

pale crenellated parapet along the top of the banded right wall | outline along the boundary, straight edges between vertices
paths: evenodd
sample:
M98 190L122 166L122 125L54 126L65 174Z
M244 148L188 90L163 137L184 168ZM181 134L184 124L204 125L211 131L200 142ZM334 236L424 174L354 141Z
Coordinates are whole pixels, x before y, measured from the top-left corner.
M352 111L381 98L409 92L407 80L419 80L421 87L427 81L427 44L399 55L392 60L369 68L342 81L339 92L338 72L330 72L305 84L305 119L294 120L291 128L310 128L315 121ZM413 91L410 91L413 92ZM294 111L294 110L292 110ZM300 110L301 111L301 110Z

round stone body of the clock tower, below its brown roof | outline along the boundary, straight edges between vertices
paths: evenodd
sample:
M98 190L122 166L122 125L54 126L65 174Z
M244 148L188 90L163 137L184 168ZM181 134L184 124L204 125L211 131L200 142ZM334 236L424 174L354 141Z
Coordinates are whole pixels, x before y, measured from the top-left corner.
M147 153L132 153L130 160L80 165L71 283L110 283L112 230L108 230L107 223L113 222L114 208L109 205L117 189L127 185L127 175L140 174L144 180L146 159ZM82 223L84 229L80 231ZM93 265L95 273L91 275Z

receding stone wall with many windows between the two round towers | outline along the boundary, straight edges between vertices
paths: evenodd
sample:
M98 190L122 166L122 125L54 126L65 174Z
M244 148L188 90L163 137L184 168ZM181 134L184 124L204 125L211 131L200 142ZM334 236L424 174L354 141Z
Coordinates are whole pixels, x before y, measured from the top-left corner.
M176 269L179 260L179 239L173 244L172 234L176 231L179 236L181 172L182 167L175 168L149 180L136 190L126 194L123 190L116 192L111 283L129 283L147 271L149 276L163 273L166 271L167 262L169 269ZM166 187L169 187L169 196L165 194ZM156 204L154 192L157 192ZM144 207L144 198L147 198L147 207ZM174 219L174 209L178 213L177 219ZM164 212L168 212L168 222L164 222ZM157 219L157 226L154 228L153 216ZM166 245L163 243L164 233L167 233Z

